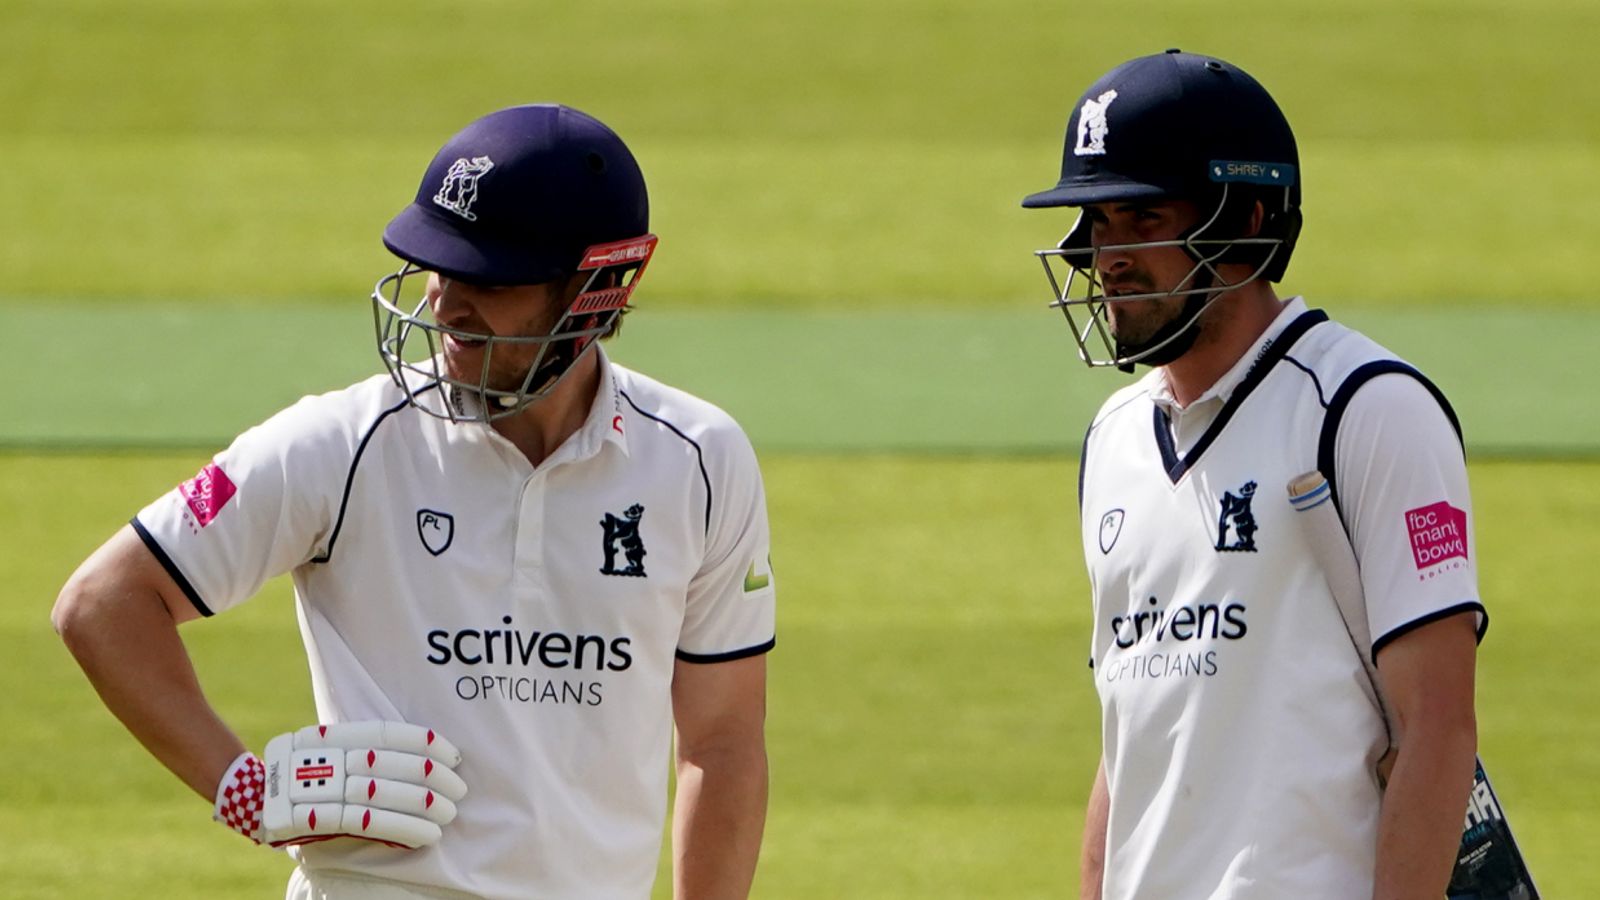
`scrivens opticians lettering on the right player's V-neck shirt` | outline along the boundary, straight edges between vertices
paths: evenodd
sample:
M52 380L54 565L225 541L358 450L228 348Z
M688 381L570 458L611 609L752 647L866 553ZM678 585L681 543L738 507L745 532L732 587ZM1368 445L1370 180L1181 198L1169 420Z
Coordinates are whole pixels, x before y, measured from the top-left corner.
M1101 677L1107 682L1152 677L1213 676L1221 663L1216 644L1250 634L1245 604L1182 604L1134 609L1110 620L1112 642L1123 653L1107 653Z

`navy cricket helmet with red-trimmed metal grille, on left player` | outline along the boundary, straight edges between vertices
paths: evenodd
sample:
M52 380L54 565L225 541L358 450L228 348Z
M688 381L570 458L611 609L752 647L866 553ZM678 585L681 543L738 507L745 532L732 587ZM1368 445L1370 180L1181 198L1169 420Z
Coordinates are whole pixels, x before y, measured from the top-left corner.
M557 104L491 112L450 138L416 199L384 229L405 266L373 290L378 352L413 404L432 415L491 421L544 397L595 341L611 335L656 247L638 162L597 119ZM570 283L581 288L544 335L483 335L440 325L427 272L482 287ZM453 376L443 336L483 341L477 378ZM515 384L490 365L534 349ZM422 402L429 389L442 397Z

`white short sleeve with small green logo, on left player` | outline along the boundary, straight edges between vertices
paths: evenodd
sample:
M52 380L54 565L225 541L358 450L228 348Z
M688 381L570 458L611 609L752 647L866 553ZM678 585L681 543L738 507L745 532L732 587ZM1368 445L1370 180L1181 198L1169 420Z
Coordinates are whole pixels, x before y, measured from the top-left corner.
M720 663L773 649L778 577L755 450L731 421L706 442L706 556L690 580L678 658Z

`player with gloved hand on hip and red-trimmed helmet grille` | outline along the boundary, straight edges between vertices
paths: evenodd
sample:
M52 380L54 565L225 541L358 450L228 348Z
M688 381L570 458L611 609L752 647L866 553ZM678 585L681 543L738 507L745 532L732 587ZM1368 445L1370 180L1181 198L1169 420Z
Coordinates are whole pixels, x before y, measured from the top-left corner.
M710 404L611 364L643 176L562 106L451 138L384 243L389 370L242 434L91 556L54 623L290 897L640 898L675 743L678 897L749 894L774 577ZM318 725L250 753L178 623L294 580ZM286 722L302 725L302 722Z

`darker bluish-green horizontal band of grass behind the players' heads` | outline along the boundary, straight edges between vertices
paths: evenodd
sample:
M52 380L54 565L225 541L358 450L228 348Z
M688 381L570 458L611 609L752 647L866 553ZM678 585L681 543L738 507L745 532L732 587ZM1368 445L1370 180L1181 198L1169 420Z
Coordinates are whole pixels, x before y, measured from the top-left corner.
M1003 312L642 309L614 359L731 412L762 450L1054 455L1125 376L1066 327ZM1338 304L1333 312L1339 317ZM379 370L358 307L6 309L0 447L214 450L302 394ZM1347 317L1426 372L1486 458L1600 455L1600 312L1461 309Z

